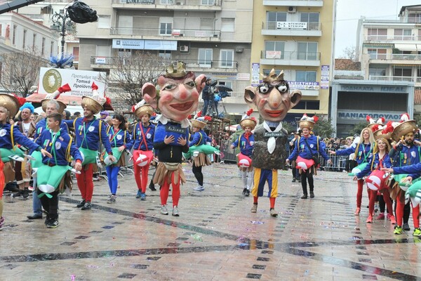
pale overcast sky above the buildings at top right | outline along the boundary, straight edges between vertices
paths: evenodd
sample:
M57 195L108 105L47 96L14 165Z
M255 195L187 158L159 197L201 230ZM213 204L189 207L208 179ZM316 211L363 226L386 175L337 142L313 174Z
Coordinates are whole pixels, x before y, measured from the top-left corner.
M347 47L355 46L359 18L397 20L402 6L421 4L421 0L338 0L335 58Z

